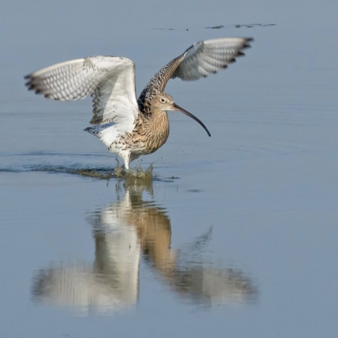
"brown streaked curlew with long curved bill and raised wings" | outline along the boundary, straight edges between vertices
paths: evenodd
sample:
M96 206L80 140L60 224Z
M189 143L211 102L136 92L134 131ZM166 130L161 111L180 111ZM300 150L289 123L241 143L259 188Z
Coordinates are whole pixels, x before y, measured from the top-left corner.
M141 155L154 153L169 135L167 111L196 116L175 104L163 91L170 78L184 81L218 73L244 55L251 38L221 38L196 42L151 78L136 99L134 63L120 56L93 56L51 65L25 76L26 86L56 101L76 101L91 95L94 126L84 129L101 139L125 168Z

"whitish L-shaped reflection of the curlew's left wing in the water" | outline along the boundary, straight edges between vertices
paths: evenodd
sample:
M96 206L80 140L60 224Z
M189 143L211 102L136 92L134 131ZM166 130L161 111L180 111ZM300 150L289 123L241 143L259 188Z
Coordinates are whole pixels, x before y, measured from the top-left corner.
M137 303L140 244L123 216L130 199L95 213L94 265L72 263L47 268L35 277L35 299L80 312L113 313Z

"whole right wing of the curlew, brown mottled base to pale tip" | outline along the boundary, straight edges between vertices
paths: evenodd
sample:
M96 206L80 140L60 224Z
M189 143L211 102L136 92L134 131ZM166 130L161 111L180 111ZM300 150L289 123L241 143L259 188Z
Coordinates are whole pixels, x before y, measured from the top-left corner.
M163 92L170 79L179 77L184 81L199 80L201 77L218 73L235 61L237 56L245 55L242 49L250 47L251 38L221 38L196 42L184 53L174 58L151 78L139 96L139 108L149 113L151 100Z

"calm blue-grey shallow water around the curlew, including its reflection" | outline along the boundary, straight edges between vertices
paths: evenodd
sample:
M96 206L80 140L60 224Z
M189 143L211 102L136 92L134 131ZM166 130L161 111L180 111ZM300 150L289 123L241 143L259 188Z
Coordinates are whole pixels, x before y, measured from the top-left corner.
M337 4L174 5L1 11L1 337L337 335ZM113 176L82 132L90 100L24 87L104 54L132 58L139 93L193 42L225 36L255 42L224 72L166 88L212 137L170 113L168 142L132 163L154 165L152 180Z

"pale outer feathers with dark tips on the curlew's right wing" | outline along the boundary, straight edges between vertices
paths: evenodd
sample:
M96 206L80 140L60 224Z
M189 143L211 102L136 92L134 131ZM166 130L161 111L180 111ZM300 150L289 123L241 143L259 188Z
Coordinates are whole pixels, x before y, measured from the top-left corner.
M172 78L180 77L184 81L199 80L201 77L218 73L242 56L242 49L248 48L248 38L221 38L196 42L187 51L177 66Z

